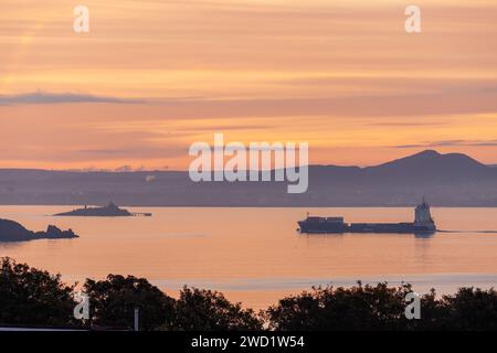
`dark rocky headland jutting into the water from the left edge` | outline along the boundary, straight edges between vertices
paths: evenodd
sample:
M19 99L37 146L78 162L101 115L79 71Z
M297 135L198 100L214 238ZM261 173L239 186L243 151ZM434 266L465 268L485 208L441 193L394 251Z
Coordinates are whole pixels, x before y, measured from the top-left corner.
M32 232L14 221L0 218L0 242L27 242L35 239L68 239L77 238L72 229L61 231L49 225L45 232Z

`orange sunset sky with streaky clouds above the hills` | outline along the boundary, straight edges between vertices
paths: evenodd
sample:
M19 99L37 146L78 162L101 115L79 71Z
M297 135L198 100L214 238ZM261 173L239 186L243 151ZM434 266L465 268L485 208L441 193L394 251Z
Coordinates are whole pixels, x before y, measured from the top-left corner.
M409 4L0 0L0 168L187 169L214 132L311 163L497 164L497 2L417 1L411 34Z

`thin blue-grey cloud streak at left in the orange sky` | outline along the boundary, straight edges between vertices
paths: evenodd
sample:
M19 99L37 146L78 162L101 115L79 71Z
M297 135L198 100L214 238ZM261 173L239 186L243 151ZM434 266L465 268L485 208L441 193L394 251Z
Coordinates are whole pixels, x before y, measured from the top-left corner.
M33 92L19 95L0 95L0 106L21 104L66 104L66 103L118 103L118 104L142 104L144 99L116 98L107 96L94 96L73 93L46 93Z

